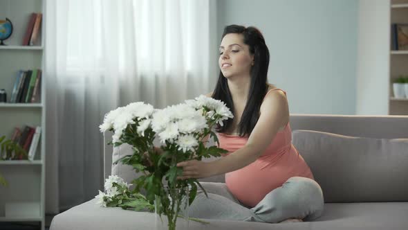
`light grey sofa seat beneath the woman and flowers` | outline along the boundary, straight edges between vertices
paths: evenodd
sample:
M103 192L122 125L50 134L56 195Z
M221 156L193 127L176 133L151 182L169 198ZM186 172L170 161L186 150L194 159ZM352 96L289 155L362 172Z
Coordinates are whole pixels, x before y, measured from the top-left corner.
M322 217L313 222L269 224L232 220L207 220L210 224L190 221L189 229L406 229L408 202L324 204ZM154 229L154 214L120 208L102 208L96 199L56 215L50 230Z

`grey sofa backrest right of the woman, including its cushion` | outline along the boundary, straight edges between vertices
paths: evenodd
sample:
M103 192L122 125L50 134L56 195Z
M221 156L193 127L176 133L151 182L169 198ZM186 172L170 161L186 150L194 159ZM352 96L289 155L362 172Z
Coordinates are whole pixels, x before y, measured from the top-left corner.
M408 116L290 117L325 202L407 202Z

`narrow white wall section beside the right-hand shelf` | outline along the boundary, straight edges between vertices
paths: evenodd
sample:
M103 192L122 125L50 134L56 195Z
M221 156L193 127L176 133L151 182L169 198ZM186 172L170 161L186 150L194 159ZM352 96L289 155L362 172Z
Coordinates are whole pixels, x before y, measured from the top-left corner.
M360 0L356 114L388 114L390 3Z

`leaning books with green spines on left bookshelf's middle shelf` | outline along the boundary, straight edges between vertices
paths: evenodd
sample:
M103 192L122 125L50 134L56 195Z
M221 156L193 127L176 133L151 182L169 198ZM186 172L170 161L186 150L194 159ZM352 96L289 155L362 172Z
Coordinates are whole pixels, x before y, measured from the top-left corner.
M41 102L41 69L17 73L15 85L12 88L10 103L40 103Z

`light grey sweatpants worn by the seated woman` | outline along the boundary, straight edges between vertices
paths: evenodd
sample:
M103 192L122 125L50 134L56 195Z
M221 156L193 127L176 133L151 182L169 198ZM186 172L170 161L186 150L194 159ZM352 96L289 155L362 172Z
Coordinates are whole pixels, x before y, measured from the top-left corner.
M241 204L225 183L200 184L208 198L198 187L196 199L189 206L189 217L192 218L277 223L288 218L315 220L323 212L322 188L306 177L290 177L253 208Z

